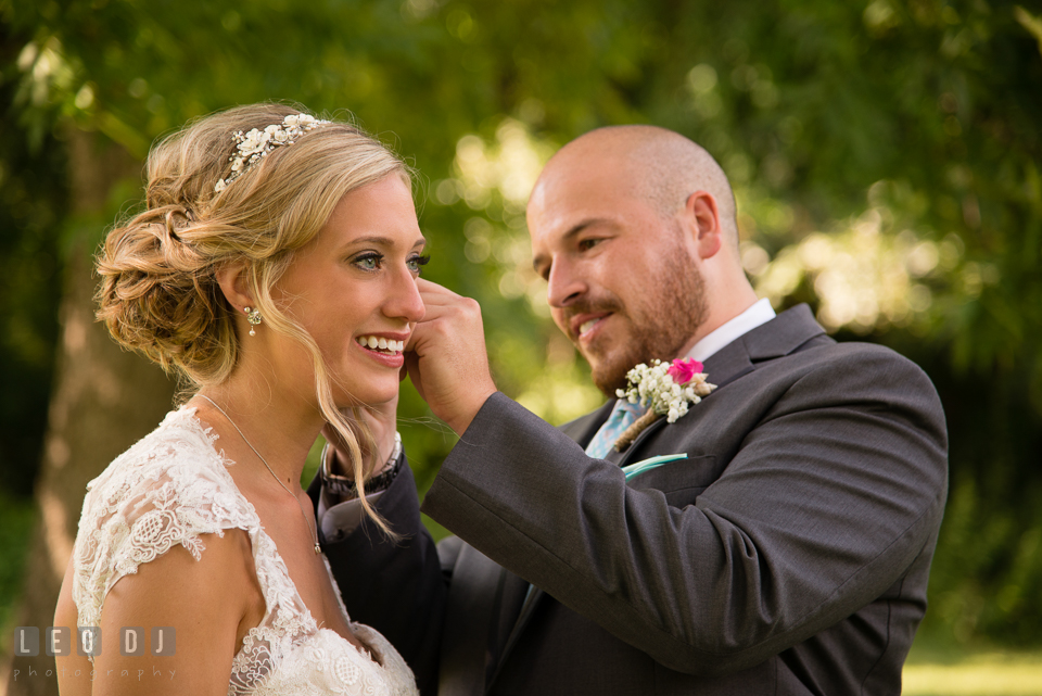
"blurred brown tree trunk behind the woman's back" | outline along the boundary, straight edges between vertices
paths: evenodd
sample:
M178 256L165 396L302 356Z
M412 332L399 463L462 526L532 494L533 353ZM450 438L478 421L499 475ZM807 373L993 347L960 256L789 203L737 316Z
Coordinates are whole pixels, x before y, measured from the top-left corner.
M140 177L141 163L102 136L69 129L73 214L101 218L113 186ZM102 227L111 220L99 223ZM54 605L86 494L87 482L150 432L169 409L174 383L144 357L123 351L94 320L97 284L81 240L68 255L61 308L61 345L40 474L38 521L26 568L17 625L53 623ZM14 658L10 696L58 694L54 658Z

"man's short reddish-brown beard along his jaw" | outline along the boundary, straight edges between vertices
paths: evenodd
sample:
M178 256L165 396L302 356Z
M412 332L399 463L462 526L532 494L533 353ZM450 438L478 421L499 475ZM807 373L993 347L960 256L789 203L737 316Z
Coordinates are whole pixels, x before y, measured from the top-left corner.
M672 360L706 321L709 305L706 281L683 246L668 254L662 273L648 278L647 292L623 307L617 298L587 311L608 309L630 319L631 333L621 346L592 362L594 384L608 397L626 387L626 372L655 358ZM614 338L614 337L613 337ZM618 340L618 339L617 339ZM582 352L582 350L580 351Z

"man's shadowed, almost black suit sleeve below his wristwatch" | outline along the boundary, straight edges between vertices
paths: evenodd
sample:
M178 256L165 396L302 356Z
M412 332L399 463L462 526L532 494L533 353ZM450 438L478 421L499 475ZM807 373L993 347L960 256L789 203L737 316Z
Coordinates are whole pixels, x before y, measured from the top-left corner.
M317 499L320 477L309 486ZM379 631L402 654L421 694L437 691L437 657L447 596L434 540L420 520L408 466L374 508L402 535L394 542L365 519L345 537L322 544L353 621Z

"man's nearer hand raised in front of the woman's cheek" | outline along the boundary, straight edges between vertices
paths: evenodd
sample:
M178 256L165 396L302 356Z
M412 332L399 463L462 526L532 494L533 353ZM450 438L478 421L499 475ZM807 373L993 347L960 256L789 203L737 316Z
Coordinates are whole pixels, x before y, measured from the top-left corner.
M463 434L495 391L481 307L429 280L417 287L427 307L406 346L405 368L434 415Z

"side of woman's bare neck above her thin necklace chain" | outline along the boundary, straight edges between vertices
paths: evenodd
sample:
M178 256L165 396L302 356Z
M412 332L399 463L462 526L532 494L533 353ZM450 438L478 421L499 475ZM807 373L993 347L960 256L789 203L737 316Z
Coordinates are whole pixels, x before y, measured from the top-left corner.
M241 371L199 393L213 403L195 396L192 405L207 414L226 443L241 443L250 455L252 445L280 481L298 484L307 453L325 423L306 396L280 391Z

